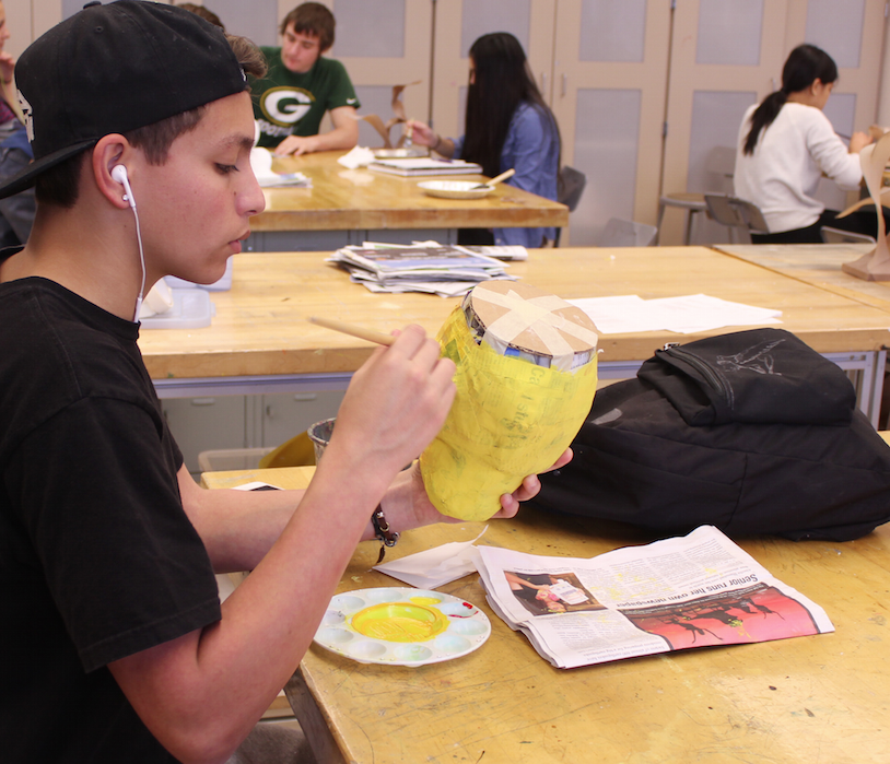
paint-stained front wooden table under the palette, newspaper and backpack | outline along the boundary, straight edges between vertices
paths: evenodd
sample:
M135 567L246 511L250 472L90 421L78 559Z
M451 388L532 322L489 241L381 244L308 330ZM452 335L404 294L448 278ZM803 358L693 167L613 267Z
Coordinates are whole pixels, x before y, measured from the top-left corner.
M303 487L312 468L209 473L212 487L266 480ZM397 557L472 540L481 524L406 533ZM479 543L590 557L644 543L628 528L528 508ZM441 587L484 610L492 635L454 661L362 665L313 646L285 692L319 764L862 764L887 761L890 528L857 541L756 538L740 545L822 606L836 631L555 669L488 607L478 575ZM393 586L363 542L338 591Z

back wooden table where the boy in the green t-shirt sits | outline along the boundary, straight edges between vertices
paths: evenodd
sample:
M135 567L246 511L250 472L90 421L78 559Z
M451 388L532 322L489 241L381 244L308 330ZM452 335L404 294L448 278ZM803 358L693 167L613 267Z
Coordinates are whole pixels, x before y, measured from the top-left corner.
M363 240L409 243L455 239L466 227L562 227L564 204L502 184L484 199L455 200L426 196L418 183L370 169L348 169L337 162L344 152L328 151L276 160L279 172L300 172L312 188L267 188L266 211L250 219L254 251L337 249ZM461 175L455 180L485 179Z

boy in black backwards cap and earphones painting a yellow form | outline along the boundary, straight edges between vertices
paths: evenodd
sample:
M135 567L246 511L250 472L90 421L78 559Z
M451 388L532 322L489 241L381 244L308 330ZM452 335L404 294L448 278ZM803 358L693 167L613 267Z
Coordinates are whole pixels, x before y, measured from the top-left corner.
M36 183L0 254L0 750L15 762L221 762L297 667L352 551L443 519L401 467L453 365L407 327L356 372L305 492L206 491L137 345L139 296L210 283L262 192L255 49L173 5L90 3L21 57ZM239 63L241 60L241 63ZM504 516L536 478L502 499ZM221 606L213 572L253 573Z

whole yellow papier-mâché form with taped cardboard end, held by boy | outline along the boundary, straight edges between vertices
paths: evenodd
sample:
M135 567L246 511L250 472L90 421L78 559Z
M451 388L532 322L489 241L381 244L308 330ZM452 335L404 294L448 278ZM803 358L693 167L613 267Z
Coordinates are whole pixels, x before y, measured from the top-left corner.
M442 514L485 520L581 430L596 392L596 330L560 297L492 281L476 286L437 339L457 366L457 396L420 457L423 482Z

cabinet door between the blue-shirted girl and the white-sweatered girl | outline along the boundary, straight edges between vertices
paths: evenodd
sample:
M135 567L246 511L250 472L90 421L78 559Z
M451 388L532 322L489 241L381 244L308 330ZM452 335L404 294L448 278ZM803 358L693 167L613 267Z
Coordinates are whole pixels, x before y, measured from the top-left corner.
M669 0L559 0L552 106L562 163L587 176L565 244L655 223L669 39Z

